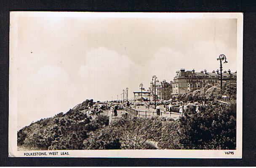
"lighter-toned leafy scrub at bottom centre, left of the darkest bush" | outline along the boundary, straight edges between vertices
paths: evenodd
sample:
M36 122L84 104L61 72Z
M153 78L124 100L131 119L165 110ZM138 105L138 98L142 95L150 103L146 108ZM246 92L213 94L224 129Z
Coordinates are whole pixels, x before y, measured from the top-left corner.
M178 124L162 121L158 116L137 118L131 115L112 122L108 127L92 132L84 141L84 149L160 149L179 147Z

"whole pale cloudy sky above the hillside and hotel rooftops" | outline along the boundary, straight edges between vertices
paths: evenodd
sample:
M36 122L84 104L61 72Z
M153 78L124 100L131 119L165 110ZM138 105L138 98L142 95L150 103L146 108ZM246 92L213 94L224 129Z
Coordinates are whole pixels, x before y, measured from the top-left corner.
M129 98L152 76L176 70L236 71L237 20L225 18L18 18L18 127L86 99ZM29 119L27 119L29 116Z

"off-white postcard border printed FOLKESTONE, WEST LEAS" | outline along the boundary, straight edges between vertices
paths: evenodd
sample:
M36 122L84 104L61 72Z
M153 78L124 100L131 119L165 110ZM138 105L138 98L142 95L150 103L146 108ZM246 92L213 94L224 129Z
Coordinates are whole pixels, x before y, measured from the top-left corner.
M58 155L25 153L53 152L17 150L17 29L19 17L101 17L101 18L237 18L237 150L54 150ZM9 62L9 157L140 157L140 158L242 158L243 116L243 13L129 13L129 12L11 12ZM69 152L69 155L61 155ZM225 152L234 152L227 155Z

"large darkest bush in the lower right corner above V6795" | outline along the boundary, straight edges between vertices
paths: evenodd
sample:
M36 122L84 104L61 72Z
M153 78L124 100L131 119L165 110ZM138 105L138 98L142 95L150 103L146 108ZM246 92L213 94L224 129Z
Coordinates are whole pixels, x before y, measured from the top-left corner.
M236 149L236 105L216 105L188 112L180 118L179 136L184 149Z

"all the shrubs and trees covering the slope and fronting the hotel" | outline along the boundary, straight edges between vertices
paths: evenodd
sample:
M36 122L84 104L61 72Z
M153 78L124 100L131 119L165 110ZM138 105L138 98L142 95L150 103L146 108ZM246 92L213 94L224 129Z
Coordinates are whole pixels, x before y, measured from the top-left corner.
M36 150L236 149L236 85L225 84L228 103L221 104L218 87L206 86L181 95L180 100L207 100L189 106L178 120L123 115L109 123L93 100L67 113L41 119L18 131L19 146ZM99 103L99 102L98 102Z

